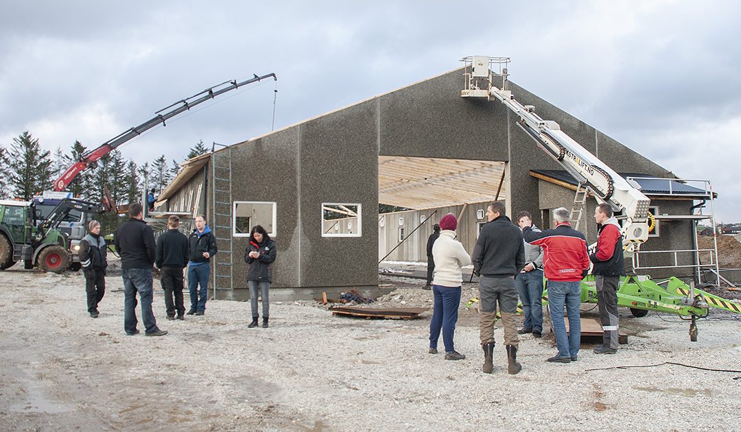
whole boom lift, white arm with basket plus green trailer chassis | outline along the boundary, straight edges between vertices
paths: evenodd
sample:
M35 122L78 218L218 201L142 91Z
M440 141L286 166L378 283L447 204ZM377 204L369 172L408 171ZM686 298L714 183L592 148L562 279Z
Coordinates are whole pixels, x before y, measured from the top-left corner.
M511 90L508 90L508 57L472 56L462 61L466 67L465 88L461 90L461 96L502 102L518 117L517 125L579 182L571 219L574 219L575 213L579 214L580 219L588 191L598 202L610 205L616 212L624 212L623 249L629 256L637 252L640 244L648 239L648 207L651 203L639 186L623 179L597 156L571 139L558 123L538 116L535 107L517 102ZM494 67L499 68L499 73L493 72ZM495 77L501 79L501 88L494 85ZM579 219L576 219L576 225ZM617 294L618 305L630 308L634 316L645 316L648 310L688 316L691 321L690 340L693 342L697 340L696 319L709 313L706 300L710 301L712 307L741 312L741 307L736 308L732 302L694 288L694 282L687 285L674 277L657 284L648 276L631 274L621 280ZM548 304L547 290L542 300L543 305ZM582 281L582 302L597 302L594 276L587 276Z

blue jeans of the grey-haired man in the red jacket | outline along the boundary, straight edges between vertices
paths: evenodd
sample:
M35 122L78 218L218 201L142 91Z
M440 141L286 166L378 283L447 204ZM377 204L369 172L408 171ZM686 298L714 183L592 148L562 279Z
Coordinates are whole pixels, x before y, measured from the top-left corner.
M568 316L568 336L563 321L563 305ZM548 281L548 310L551 312L559 357L576 357L582 338L579 306L582 305L581 282Z

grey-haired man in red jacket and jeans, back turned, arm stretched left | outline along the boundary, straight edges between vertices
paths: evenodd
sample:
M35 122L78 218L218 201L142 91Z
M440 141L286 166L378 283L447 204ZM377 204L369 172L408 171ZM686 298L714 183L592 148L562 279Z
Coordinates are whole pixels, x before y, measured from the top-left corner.
M554 210L556 228L536 232L525 224L525 242L543 248L543 270L548 279L548 310L551 312L558 353L548 362L569 363L578 359L582 324L579 306L582 304L581 282L589 271L587 240L571 227L571 213L564 207ZM532 223L532 222L531 222ZM563 320L563 305L568 315L568 336Z

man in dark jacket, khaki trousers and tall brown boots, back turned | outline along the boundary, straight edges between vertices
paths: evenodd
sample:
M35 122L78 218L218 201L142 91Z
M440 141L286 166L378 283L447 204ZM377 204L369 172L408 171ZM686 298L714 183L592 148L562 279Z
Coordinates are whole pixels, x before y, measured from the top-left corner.
M525 242L519 227L505 216L503 202L492 202L486 208L488 223L484 225L473 247L471 262L473 271L479 276L479 332L484 350L485 373L494 370L494 323L496 304L502 315L507 346L508 372L518 373L522 366L517 362L517 291L514 278L525 266Z

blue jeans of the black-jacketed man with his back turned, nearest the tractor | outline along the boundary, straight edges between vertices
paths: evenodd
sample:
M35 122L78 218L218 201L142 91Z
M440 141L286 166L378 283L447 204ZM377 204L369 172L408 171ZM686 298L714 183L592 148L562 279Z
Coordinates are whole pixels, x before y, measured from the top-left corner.
M136 293L142 297L142 321L147 333L159 331L152 313L152 269L130 268L122 270L124 278L124 330L136 332Z

